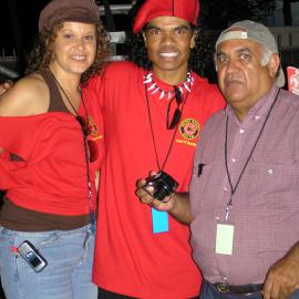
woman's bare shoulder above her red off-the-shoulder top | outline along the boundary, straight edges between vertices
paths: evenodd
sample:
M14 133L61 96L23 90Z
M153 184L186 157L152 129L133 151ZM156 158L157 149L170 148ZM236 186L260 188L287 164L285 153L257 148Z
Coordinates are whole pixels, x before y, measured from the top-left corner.
M19 80L0 96L1 116L24 116L45 113L49 89L41 75L34 73Z

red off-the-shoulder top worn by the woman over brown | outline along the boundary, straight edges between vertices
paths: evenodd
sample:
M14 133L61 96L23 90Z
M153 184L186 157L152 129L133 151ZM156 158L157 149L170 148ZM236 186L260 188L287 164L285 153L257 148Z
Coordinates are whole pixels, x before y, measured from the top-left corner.
M102 121L89 93L87 114L94 120L100 156L103 156ZM84 117L83 106L80 114ZM71 114L51 112L33 116L0 117L0 189L16 205L58 215L89 214L86 165L81 127ZM22 158L11 161L9 153Z

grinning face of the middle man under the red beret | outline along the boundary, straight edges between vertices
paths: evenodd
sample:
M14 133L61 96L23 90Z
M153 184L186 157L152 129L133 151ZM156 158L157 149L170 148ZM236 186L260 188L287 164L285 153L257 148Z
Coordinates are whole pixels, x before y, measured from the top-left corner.
M152 19L143 33L153 71L159 79L186 79L190 49L195 47L190 24L175 17Z

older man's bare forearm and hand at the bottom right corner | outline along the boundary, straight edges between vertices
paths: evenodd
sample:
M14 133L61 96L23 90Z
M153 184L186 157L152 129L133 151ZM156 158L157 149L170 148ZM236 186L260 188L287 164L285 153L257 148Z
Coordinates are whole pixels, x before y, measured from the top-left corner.
M287 299L299 289L299 243L272 265L264 283L264 299Z

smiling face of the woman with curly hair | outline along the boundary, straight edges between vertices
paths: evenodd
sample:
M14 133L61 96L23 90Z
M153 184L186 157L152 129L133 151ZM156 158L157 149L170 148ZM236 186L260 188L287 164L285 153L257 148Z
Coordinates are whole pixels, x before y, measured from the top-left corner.
M50 68L81 75L94 62L95 34L94 24L64 22L56 32Z

